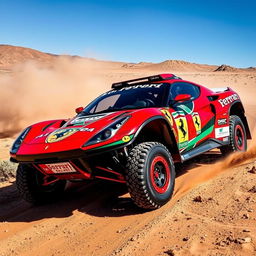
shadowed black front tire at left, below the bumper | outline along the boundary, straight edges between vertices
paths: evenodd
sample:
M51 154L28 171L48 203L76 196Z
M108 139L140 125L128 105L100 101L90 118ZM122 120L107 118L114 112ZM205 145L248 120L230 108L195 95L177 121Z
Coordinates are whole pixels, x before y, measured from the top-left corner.
M44 175L32 166L19 164L16 186L21 197L27 202L38 205L56 200L64 191L65 180L58 180L43 186Z

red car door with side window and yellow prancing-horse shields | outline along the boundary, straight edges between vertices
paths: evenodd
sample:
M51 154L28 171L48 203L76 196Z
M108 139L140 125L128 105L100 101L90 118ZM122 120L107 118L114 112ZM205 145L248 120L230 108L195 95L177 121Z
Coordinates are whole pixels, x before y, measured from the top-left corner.
M190 95L185 101L175 101L178 95ZM178 147L181 153L191 150L206 139L204 127L212 118L209 104L201 101L200 87L188 82L171 85L170 112L176 124Z

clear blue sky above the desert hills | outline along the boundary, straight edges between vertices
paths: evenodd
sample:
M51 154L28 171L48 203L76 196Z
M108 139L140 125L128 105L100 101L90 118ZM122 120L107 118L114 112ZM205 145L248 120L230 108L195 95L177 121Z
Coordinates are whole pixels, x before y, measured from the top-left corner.
M255 0L0 0L0 44L125 62L256 66Z

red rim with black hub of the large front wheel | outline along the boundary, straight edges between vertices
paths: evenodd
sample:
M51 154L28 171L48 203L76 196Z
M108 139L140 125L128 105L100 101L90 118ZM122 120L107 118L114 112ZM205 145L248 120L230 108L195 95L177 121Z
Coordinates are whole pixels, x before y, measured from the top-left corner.
M162 156L153 159L150 166L150 179L156 192L163 194L170 185L171 171L168 162Z

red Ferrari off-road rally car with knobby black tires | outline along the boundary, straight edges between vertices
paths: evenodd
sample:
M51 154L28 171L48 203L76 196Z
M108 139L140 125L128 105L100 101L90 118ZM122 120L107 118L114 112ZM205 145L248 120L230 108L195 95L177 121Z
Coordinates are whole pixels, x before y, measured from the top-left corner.
M16 183L28 202L59 196L66 181L104 179L125 183L139 207L159 208L172 196L174 163L214 148L244 151L251 138L236 92L173 74L114 83L76 112L31 125L14 142Z

